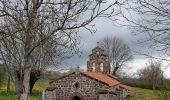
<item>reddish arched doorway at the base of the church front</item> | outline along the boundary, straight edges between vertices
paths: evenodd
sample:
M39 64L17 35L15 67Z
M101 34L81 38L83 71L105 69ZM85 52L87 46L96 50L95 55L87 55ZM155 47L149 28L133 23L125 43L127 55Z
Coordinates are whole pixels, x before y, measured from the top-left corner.
M68 97L68 100L86 100L86 99L81 93L74 92Z

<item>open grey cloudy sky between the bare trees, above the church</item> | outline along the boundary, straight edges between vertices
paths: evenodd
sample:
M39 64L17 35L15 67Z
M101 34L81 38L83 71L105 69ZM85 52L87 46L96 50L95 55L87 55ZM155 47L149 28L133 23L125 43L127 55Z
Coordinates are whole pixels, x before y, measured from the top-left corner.
M113 22L108 19L97 19L93 23L96 25L97 32L91 34L86 30L81 30L79 35L81 36L81 57L75 56L69 60L64 61L63 66L76 67L80 66L82 69L86 70L86 62L88 60L88 55L91 54L91 50L96 47L97 42L105 36L117 36L121 38L125 43L127 43L133 51L148 51L149 49L141 47L136 44L136 40L144 37L133 36L125 27L118 27L113 25ZM125 69L127 74L132 75L142 67L146 66L148 63L148 58L140 55L134 54L134 60L129 62L127 66L129 69ZM165 76L170 78L170 68L164 70Z

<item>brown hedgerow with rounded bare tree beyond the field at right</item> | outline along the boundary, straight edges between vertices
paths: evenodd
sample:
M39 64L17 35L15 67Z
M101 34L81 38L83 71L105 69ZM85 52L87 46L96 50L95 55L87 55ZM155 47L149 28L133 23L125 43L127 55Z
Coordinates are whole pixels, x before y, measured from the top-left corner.
M170 79L165 78L162 64L158 61L151 60L146 67L139 69L137 78L128 76L120 80L133 87L170 90Z

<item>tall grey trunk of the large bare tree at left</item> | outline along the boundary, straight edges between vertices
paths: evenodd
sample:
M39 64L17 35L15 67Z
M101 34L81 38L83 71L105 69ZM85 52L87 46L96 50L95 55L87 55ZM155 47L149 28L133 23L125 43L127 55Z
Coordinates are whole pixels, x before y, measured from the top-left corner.
M34 13L33 13L34 14ZM28 21L28 26L26 29L26 39L25 39L25 47L24 47L24 66L22 68L23 74L21 74L22 79L22 92L20 100L30 100L30 75L31 75L31 47L33 45L33 33L32 25L33 25L33 19L35 17L31 17Z

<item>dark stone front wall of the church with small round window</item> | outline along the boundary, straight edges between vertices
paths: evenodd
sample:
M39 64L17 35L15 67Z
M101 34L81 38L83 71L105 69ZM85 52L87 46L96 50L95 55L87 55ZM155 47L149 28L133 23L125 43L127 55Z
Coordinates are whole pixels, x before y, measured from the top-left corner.
M85 100L99 100L98 88L110 88L79 72L54 81L50 86L56 87L56 89L49 94L46 92L46 100L70 100L74 93L80 93Z

